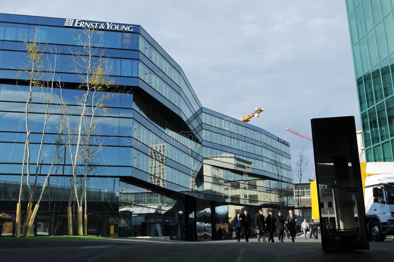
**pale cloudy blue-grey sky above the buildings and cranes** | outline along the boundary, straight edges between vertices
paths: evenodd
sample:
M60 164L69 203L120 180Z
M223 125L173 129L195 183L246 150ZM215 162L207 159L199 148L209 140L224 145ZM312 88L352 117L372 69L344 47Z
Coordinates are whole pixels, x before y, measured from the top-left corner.
M202 106L291 144L312 118L360 115L345 0L0 0L0 12L141 25L182 67Z

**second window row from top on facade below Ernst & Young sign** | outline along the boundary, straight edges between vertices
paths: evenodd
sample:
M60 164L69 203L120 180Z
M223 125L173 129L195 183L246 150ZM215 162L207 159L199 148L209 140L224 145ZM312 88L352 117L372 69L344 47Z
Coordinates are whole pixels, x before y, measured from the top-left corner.
M3 69L30 69L27 59L28 53L21 51L0 51L0 68ZM41 57L42 69L40 71L51 72L55 61L52 54L45 54ZM48 60L50 63L48 63ZM97 65L99 58L92 58L92 65ZM107 75L119 76L138 76L138 60L104 58L104 72ZM84 62L81 57L73 55L58 55L56 59L56 72L65 73L84 73L87 66L83 66Z

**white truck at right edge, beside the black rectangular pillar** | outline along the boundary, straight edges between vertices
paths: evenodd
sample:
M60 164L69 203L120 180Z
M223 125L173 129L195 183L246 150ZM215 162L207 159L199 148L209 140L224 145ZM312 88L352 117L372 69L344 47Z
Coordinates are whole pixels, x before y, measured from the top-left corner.
M367 163L366 173L364 203L368 236L373 241L383 241L386 235L394 235L394 163Z

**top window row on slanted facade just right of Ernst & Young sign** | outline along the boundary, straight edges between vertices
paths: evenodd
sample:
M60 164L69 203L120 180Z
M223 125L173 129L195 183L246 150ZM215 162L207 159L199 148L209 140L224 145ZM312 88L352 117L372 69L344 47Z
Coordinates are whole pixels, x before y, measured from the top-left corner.
M139 37L139 50L182 89L192 104L194 111L201 107L197 98L190 91L191 87L187 85L182 75L142 36Z

